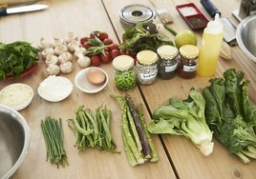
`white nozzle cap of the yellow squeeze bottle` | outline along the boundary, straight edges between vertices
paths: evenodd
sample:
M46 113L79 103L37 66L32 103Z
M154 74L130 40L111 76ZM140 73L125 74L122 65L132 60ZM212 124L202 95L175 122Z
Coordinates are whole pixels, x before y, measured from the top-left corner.
M224 25L220 22L219 18L220 14L216 13L214 21L208 22L205 32L213 34L222 33L224 30Z

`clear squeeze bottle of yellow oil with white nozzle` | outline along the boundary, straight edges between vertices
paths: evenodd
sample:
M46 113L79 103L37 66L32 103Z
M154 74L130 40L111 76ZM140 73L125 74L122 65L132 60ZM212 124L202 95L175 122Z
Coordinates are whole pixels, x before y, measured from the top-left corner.
M203 30L202 48L199 53L197 73L201 76L213 76L219 60L223 43L224 28L216 13L214 21L210 21Z

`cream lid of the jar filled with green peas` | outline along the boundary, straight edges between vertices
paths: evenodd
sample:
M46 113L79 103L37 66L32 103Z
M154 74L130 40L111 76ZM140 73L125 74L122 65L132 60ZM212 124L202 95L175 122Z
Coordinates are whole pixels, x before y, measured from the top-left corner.
M130 70L134 66L134 59L129 55L119 55L114 58L112 65L115 70Z

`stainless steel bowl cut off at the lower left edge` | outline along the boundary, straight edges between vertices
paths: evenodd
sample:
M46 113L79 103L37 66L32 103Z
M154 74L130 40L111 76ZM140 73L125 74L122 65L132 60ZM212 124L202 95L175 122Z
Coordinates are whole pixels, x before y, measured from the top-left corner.
M30 129L15 109L0 105L0 178L10 178L30 146Z

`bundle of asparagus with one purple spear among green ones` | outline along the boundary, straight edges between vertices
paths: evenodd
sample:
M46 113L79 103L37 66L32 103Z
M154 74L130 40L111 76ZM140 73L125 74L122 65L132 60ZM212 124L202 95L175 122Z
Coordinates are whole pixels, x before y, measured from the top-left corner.
M146 161L157 162L158 152L146 129L141 104L136 107L129 94L124 97L111 95L121 107L121 133L124 149L131 167L144 164Z

